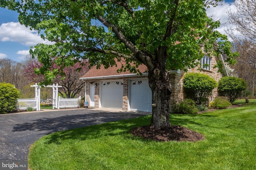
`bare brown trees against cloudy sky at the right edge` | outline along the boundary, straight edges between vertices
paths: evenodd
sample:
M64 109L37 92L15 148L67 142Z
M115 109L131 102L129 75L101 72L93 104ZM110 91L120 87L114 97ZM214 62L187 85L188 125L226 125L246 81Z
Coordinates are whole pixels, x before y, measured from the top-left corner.
M233 51L240 53L237 63L230 67L233 75L246 81L243 96L255 98L256 90L256 0L236 0L236 10L229 10L229 22L235 28L227 27L226 33L233 40Z

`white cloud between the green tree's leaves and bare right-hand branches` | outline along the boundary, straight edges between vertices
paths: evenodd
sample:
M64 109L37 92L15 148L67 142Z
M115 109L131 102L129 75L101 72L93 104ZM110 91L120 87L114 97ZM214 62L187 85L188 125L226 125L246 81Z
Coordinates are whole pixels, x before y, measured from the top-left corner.
M234 2L228 3L223 1L222 5L219 5L217 7L210 7L206 10L206 13L208 16L210 16L214 20L219 20L221 25L216 29L216 31L219 31L222 34L226 34L226 31L228 28L233 29L235 28L234 25L230 25L228 22L229 16L227 14L228 10L234 11L236 10L236 6L234 6ZM229 41L232 41L232 39L229 38Z

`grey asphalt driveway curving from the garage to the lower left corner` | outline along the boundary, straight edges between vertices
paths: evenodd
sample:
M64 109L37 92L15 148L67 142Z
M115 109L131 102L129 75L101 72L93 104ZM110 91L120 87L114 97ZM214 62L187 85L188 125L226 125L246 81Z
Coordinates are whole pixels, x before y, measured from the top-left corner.
M80 108L0 115L0 160L28 160L30 146L50 133L148 114Z

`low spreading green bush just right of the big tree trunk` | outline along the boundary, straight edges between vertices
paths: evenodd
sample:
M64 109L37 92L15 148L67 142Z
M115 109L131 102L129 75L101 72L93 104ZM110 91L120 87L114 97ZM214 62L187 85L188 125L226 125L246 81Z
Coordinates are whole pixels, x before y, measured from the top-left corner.
M196 114L198 109L192 99L185 99L178 103L174 103L172 106L172 113L179 114Z

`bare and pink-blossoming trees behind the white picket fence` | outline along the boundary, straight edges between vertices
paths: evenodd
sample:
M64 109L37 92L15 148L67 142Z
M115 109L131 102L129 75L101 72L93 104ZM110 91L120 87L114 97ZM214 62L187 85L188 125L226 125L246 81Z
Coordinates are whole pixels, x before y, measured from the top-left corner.
M40 66L38 60L32 59L30 55L21 62L0 59L0 83L13 84L20 91L20 98L34 98L34 88L30 85L44 81L44 76L35 74L35 69ZM52 69L60 68L54 66ZM56 76L53 81L62 86L59 88L60 96L64 98L83 96L84 82L79 78L89 70L88 63L84 61L83 65L77 63L74 66L63 68L63 70L66 73L65 77ZM52 98L52 89L41 88L41 98Z

